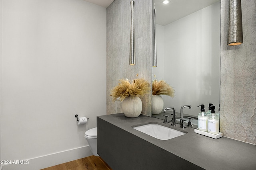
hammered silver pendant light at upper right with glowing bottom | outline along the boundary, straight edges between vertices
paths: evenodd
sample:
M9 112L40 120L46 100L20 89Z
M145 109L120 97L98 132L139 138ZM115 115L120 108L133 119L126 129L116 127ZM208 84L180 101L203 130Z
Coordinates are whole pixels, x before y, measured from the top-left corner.
M243 43L241 0L229 0L228 45Z

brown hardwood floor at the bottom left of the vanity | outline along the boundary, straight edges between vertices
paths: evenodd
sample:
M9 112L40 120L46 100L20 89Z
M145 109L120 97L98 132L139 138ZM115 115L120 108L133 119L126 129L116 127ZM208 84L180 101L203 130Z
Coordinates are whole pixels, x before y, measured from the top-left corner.
M112 170L106 162L99 156L89 156L86 158L73 160L64 164L51 166L42 170Z

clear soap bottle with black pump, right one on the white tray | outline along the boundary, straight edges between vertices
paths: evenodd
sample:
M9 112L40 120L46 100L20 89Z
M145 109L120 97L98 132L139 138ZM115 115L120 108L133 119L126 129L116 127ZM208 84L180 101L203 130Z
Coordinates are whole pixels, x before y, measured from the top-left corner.
M211 115L208 117L208 133L219 133L219 117L215 114L215 106L212 106Z

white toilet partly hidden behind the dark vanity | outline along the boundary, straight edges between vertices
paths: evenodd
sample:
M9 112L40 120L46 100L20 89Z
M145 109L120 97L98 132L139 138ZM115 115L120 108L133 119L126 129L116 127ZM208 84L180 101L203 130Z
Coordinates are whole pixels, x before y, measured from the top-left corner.
M90 149L92 151L92 154L94 156L100 156L97 154L97 127L94 127L92 129L89 129L85 132L84 137L86 138Z

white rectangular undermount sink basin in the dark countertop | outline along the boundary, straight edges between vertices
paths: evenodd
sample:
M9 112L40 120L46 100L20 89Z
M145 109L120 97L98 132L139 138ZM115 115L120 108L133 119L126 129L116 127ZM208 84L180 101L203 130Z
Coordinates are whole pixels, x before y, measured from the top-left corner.
M172 139L174 137L178 137L186 134L184 132L177 131L169 127L165 127L155 123L136 126L136 127L133 127L133 129L146 133L147 135L150 135L160 140L168 140L168 139Z

